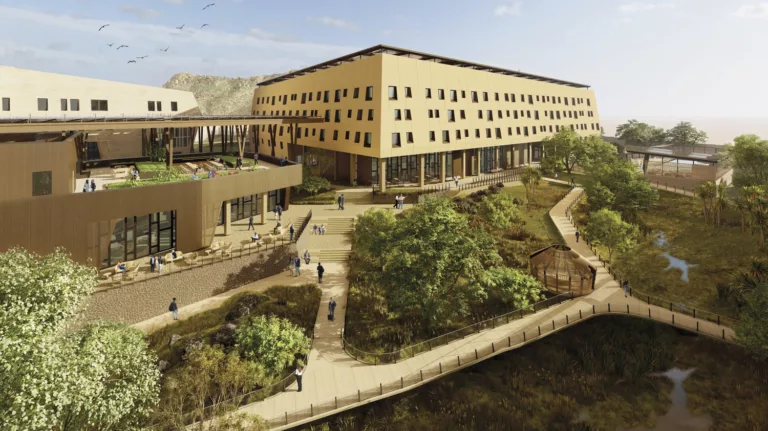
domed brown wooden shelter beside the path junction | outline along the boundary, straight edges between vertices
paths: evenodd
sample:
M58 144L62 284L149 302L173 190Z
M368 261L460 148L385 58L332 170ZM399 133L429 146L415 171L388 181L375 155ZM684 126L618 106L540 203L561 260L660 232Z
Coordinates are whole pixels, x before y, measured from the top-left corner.
M531 254L531 275L554 293L587 295L595 289L597 269L570 247L552 245Z

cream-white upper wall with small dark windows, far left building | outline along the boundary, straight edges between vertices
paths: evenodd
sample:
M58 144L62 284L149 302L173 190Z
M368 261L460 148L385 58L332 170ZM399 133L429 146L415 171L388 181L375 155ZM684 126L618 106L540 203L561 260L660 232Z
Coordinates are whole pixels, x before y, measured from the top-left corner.
M189 91L170 90L145 85L125 84L100 79L83 78L56 73L38 72L0 66L0 98L10 98L10 111L3 117L93 117L178 115L197 107ZM48 110L39 111L38 98L48 99ZM61 108L67 99L67 110ZM80 110L72 111L70 100L79 100ZM107 111L92 111L91 100L107 100ZM161 102L161 111L149 111L148 102ZM177 110L171 110L171 102Z

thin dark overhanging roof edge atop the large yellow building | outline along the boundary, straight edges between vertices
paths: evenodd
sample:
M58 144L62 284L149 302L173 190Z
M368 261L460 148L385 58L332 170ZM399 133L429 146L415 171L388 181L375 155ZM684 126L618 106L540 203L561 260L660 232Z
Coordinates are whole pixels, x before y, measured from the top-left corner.
M412 51L409 49L403 49L403 48L397 48L394 46L389 45L376 45L371 48L364 49L362 51L353 52L352 54L347 54L343 57L335 58L333 60L326 61L324 63L316 64L314 66L306 67L301 70L296 70L290 73L286 73L284 75L280 75L278 77L268 79L264 82L259 83L259 86L266 86L270 84L275 84L278 82L286 81L291 78L295 78L298 76L303 76L308 73L313 73L318 70L328 69L333 66L338 66L342 63L346 62L352 62L359 60L363 57L370 57L377 54L390 54L390 55L396 55L396 56L405 56L408 58L416 58L418 60L423 61L433 61L435 63L441 63L441 64L448 64L451 66L457 66L457 67L466 67L470 69L475 70L481 70L485 72L491 72L491 73L498 73L501 75L508 75L508 76L516 76L518 78L524 78L524 79L532 79L534 81L544 81L549 82L552 84L559 84L559 85L566 85L569 87L576 87L576 88L589 88L590 86L587 84L579 84L576 82L571 81L564 81L562 79L555 79L555 78L548 78L546 76L540 76L540 75L533 75L530 73L523 73L520 71L515 70L509 70L509 69L502 69L500 67L494 67L494 66L488 66L485 64L480 63L472 63L469 61L463 61L463 60L457 60L454 58L449 57L442 57L439 55L434 54L427 54L423 52L418 51Z

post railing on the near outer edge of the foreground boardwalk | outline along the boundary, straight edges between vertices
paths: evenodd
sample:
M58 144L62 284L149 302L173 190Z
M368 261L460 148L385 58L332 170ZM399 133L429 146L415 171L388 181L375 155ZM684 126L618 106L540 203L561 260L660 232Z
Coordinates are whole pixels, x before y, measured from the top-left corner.
M311 420L316 416L338 413L340 409L355 407L363 401L394 395L406 390L406 388L410 389L412 386L419 386L425 382L434 380L441 375L472 366L490 356L520 347L584 319L601 314L624 314L642 317L728 342L732 342L734 339L733 331L729 329L719 327L711 322L700 322L699 320L689 318L687 315L676 315L674 312L659 307L646 306L642 303L607 303L600 305L582 303L582 306L578 310L566 313L565 315L560 315L543 325L532 324L514 334L500 337L496 341L486 344L482 348L460 353L455 357L444 358L444 360L437 364L434 364L433 362L425 368L400 377L398 380L387 383L379 382L378 386L373 388L358 390L355 393L350 393L341 397L334 397L333 400L329 399L322 403L310 404L308 408L302 410L297 410L291 413L286 411L281 416L271 418L269 420L269 425L270 427L282 427L299 421Z

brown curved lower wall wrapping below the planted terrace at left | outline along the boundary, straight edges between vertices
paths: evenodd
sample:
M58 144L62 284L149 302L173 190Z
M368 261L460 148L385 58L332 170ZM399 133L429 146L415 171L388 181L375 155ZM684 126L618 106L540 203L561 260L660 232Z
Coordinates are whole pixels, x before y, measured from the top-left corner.
M47 254L64 247L76 261L98 266L107 255L116 220L171 210L176 211L176 248L195 251L211 244L222 202L297 185L301 168L293 165L212 180L0 200L0 251L23 246Z

